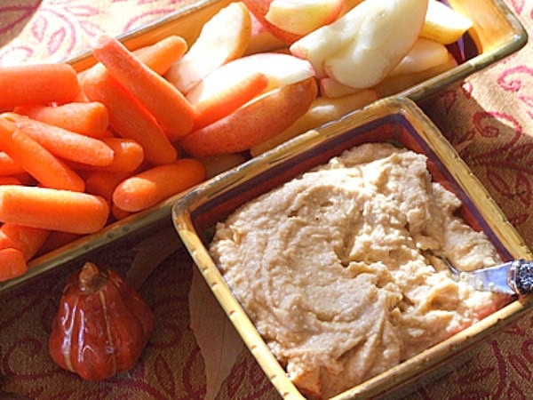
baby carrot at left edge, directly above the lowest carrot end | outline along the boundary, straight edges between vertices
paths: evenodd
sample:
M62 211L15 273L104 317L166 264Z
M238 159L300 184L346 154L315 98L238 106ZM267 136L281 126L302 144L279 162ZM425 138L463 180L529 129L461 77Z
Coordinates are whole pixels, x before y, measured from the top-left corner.
M46 229L4 224L0 228L0 249L12 247L20 250L28 261L36 255L49 235L50 231Z

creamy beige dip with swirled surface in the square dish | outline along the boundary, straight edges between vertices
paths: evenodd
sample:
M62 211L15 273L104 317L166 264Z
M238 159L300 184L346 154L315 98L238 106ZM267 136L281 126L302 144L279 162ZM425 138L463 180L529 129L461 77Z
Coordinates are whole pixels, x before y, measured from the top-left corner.
M456 283L499 261L454 212L426 156L347 150L219 223L211 255L299 390L329 397L444 340L506 300Z

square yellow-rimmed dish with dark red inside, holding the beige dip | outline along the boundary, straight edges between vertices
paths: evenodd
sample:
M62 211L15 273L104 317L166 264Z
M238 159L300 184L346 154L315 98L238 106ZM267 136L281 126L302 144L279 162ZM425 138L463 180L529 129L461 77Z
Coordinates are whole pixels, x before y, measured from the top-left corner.
M267 348L211 259L207 246L213 228L241 204L314 166L326 164L331 157L340 155L348 148L373 141L392 142L425 154L428 157L427 168L433 179L457 195L463 204L459 210L461 217L489 237L503 260L530 259L532 256L481 182L411 100L378 100L368 108L306 132L190 190L173 206L174 226L220 306L274 387L285 398L302 396ZM414 388L414 381L434 379L432 377L446 371L452 359L457 362L461 359L459 356L465 356L466 350L473 344L501 330L505 324L531 309L531 300L531 296L513 300L481 322L334 398L384 395L391 398L394 393L410 391ZM420 380L422 377L424 380Z

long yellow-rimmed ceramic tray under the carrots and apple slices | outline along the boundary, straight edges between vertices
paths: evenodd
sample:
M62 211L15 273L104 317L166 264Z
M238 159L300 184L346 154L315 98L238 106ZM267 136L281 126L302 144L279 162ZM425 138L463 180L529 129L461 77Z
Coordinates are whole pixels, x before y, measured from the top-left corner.
M188 44L192 44L200 34L203 24L229 3L230 0L182 0L176 12L171 12L144 27L133 29L119 36L119 39L131 50L154 44L170 35L183 36ZM398 93L399 96L406 96L411 100L422 99L497 60L504 59L527 43L525 29L503 0L449 0L449 4L473 20L473 28L450 49L456 54L459 64L439 76L403 90ZM83 71L91 67L95 60L91 52L84 51L73 56L68 62L77 71ZM32 260L27 274L0 283L0 294L47 271L59 268L68 261L81 259L118 239L147 235L162 224L171 224L171 204L179 196L181 195L174 196L146 212L139 212L115 222L97 234L83 236Z

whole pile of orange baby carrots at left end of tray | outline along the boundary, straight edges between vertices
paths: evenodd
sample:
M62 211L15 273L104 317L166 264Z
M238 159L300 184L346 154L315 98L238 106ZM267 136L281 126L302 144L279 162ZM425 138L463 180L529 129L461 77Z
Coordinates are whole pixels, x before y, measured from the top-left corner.
M186 51L179 36L135 52L99 36L81 73L0 67L0 281L205 179L176 141L218 108L195 112L162 77Z

